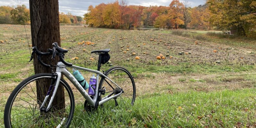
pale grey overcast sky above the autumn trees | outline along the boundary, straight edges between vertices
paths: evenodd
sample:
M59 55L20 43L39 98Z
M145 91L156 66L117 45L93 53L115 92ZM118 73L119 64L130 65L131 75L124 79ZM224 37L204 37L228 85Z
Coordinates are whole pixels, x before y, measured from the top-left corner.
M0 6L10 5L16 6L18 3L25 4L29 8L29 0L0 0ZM98 5L100 3L109 3L115 0L59 0L59 11L73 15L83 16L87 12L89 5ZM127 0L130 5L163 5L168 6L172 0ZM182 0L180 0L182 1ZM188 0L192 7L204 4L205 0Z

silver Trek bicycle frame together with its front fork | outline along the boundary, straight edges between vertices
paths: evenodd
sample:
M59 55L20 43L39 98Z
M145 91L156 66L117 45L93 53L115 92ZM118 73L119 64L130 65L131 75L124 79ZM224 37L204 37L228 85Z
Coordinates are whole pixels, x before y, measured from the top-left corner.
M75 66L75 65L68 67L68 68L76 68L76 69L79 69L79 70L84 70L84 71L88 71L88 72L92 72L92 73L97 74L97 76L96 76L96 78L97 78L97 85L96 85L96 89L95 89L94 98L92 99L90 97L90 95L84 90L82 85L79 84L79 82L76 80L76 78L65 68L65 67L67 67L66 65L64 65L62 62L58 62L57 65L58 65L58 67L56 68L56 72L55 73L58 76L57 76L57 79L56 79L56 84L55 84L55 86L53 88L53 93L52 93L51 100L50 100L46 110L49 110L50 107L51 107L52 101L54 99L54 96L55 96L55 94L57 92L57 89L58 89L58 86L59 86L59 83L60 83L61 74L66 76L68 78L68 80L71 81L72 84L74 84L74 86L78 89L78 91L84 96L84 98L88 101L88 103L90 105L92 105L92 107L94 107L94 108L95 108L95 104L96 104L96 101L97 101L97 97L100 96L100 93L99 93L99 76L108 79L111 83L115 84L118 88L122 89L115 82L113 82L111 79L109 79L107 76L105 76L100 71L92 70L92 69L89 69L89 68L83 68L83 67L79 67L79 66ZM99 101L99 105L102 105L103 103L107 102L108 100L116 98L117 96L121 95L122 93L123 92L120 92L120 93L118 93L116 95L113 95L113 96L110 96L110 97L106 96L106 97L102 98L102 100ZM45 96L44 102L42 103L41 107L44 106L44 103L47 101L48 98L49 98L49 95L47 93L47 95Z

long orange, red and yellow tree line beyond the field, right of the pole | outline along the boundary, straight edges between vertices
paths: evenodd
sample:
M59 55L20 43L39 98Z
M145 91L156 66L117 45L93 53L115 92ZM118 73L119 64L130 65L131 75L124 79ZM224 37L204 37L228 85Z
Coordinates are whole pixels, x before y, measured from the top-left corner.
M102 28L190 28L230 30L238 35L256 35L256 2L254 0L207 0L191 7L188 1L172 0L169 6L128 5L126 0L88 7L86 23Z

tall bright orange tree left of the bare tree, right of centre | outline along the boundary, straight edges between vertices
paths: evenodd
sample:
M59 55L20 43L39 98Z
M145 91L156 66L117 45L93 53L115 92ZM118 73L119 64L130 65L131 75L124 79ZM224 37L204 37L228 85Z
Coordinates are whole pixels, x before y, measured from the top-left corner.
M172 24L175 26L175 29L178 28L179 25L184 24L184 21L182 20L183 14L182 14L182 8L184 5L180 3L179 0L173 0L170 4L170 18Z

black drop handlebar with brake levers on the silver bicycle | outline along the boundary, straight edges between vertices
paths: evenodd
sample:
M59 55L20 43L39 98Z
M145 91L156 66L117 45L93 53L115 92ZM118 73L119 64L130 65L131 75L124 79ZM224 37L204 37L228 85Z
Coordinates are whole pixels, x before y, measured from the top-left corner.
M67 53L68 50L59 47L59 46L58 46L58 43L56 43L56 42L53 43L52 45L53 45L53 47L55 47L55 49L56 49L56 51L57 51L57 52L56 52L56 55L59 55L60 61L61 61L63 64L67 65L67 66L72 66L73 64L68 63L68 62L66 62L66 61L63 59L64 53ZM31 53L31 58L30 58L29 62L33 59L33 54L36 53L36 55L37 55L37 60L38 60L38 62L39 62L40 64L42 64L44 67L51 67L51 65L45 64L45 63L41 60L41 57L44 56L44 55L51 55L51 54L53 54L53 52L55 52L55 51L53 51L52 49L47 49L48 52L41 52L41 51L39 51L39 50L37 49L37 47L35 47L35 46L32 47L32 50L33 50L33 52Z

